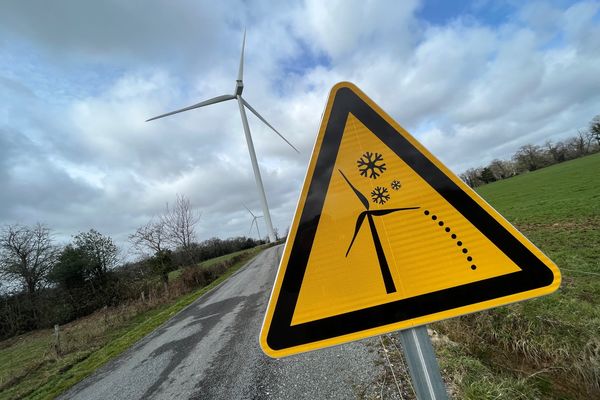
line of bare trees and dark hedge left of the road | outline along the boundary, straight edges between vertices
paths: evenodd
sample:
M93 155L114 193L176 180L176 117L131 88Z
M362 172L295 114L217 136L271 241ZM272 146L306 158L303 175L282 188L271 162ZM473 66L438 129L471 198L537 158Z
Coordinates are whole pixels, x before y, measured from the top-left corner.
M264 243L243 236L198 242L199 221L190 201L178 195L172 206L129 236L131 248L140 256L135 262L122 262L112 238L95 229L58 245L52 230L41 223L4 226L0 340L64 324L152 291L168 293L171 271Z

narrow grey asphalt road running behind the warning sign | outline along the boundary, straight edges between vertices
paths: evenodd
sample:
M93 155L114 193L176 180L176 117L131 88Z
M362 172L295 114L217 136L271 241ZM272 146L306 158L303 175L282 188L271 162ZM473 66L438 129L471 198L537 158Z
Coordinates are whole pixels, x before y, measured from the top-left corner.
M280 360L260 349L258 335L282 250L262 252L61 398L379 397L386 366L377 338Z

